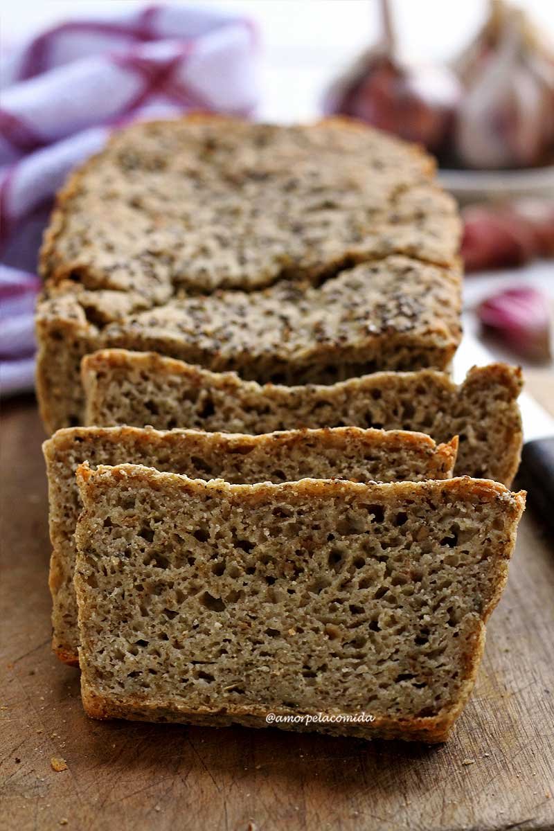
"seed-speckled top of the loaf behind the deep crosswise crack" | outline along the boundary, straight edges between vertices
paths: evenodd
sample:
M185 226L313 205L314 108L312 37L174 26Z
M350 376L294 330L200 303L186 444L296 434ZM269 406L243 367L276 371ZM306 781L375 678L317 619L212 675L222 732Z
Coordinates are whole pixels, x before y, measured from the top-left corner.
M348 119L135 123L61 190L42 274L158 305L176 289L316 282L390 253L448 266L460 224L434 167L419 147Z

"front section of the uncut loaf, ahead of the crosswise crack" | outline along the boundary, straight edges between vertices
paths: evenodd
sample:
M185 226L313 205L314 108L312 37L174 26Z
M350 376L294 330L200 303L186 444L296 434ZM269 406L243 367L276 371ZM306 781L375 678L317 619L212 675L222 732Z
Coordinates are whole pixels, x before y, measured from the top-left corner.
M294 385L375 370L444 369L460 337L459 274L400 256L362 263L320 288L281 280L262 291L171 300L155 310L126 312L114 294L134 303L127 292L82 289L39 303L37 375L50 430L82 423L80 361L101 347L169 353L244 379Z

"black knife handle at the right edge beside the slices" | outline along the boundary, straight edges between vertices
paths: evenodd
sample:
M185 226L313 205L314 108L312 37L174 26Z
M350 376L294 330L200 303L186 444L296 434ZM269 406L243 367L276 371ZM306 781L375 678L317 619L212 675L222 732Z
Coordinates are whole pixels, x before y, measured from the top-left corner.
M554 529L554 436L523 445L518 478L527 489L529 504Z

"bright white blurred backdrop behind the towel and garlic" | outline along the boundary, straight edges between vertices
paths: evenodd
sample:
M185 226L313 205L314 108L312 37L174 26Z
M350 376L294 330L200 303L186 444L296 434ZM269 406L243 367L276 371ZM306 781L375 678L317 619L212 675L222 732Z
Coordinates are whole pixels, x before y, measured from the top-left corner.
M250 17L262 39L260 118L305 120L320 111L321 91L379 35L377 0L202 0ZM517 0L554 38L554 3ZM137 0L25 0L2 8L4 47L69 18L115 14ZM449 61L483 24L484 0L392 0L401 51L409 60Z

